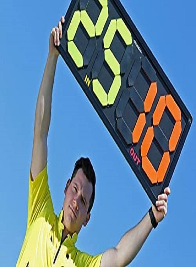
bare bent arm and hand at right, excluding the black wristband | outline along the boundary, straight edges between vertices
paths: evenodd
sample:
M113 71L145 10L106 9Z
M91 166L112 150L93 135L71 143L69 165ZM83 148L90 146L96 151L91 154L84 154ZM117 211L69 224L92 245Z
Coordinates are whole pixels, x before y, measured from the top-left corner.
M167 196L170 188L164 190L164 194L158 196L157 209L152 206L156 222L160 222L167 214ZM149 213L131 230L124 234L118 245L103 253L101 267L122 267L127 266L137 255L143 243L152 230Z

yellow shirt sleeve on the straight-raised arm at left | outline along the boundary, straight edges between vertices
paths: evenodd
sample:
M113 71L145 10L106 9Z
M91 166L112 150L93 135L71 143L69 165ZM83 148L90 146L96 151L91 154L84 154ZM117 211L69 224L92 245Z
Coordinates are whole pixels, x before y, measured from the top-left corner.
M46 221L52 220L54 217L54 209L48 186L47 164L33 181L31 180L31 171L29 174L27 228L38 217L44 217Z

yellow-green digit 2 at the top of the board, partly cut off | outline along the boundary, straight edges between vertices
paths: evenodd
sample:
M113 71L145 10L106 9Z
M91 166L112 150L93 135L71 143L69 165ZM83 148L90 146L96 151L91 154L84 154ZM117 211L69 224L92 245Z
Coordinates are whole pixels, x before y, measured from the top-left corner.
M74 43L74 37L78 30L80 22L84 26L88 36L90 38L100 36L108 18L108 0L98 0L102 6L101 12L97 19L96 25L92 22L91 18L87 14L86 10L77 10L74 12L72 20L67 29L67 48L68 53L72 57L78 68L83 67L83 55L80 53L78 47Z

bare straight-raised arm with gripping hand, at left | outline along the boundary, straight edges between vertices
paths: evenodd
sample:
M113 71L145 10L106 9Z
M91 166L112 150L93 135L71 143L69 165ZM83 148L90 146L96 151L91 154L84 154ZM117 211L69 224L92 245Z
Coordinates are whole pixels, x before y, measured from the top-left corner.
M42 171L47 162L47 138L51 117L52 89L59 56L55 45L59 45L59 38L62 37L62 23L64 23L64 16L61 17L58 27L53 28L50 33L48 58L37 97L31 159L32 180Z

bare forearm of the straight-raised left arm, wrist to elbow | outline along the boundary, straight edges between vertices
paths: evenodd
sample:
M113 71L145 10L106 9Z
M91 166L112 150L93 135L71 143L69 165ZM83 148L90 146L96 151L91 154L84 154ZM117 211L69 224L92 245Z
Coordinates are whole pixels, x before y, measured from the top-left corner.
M37 97L34 134L47 137L50 126L51 102L57 56L48 54L39 94Z

